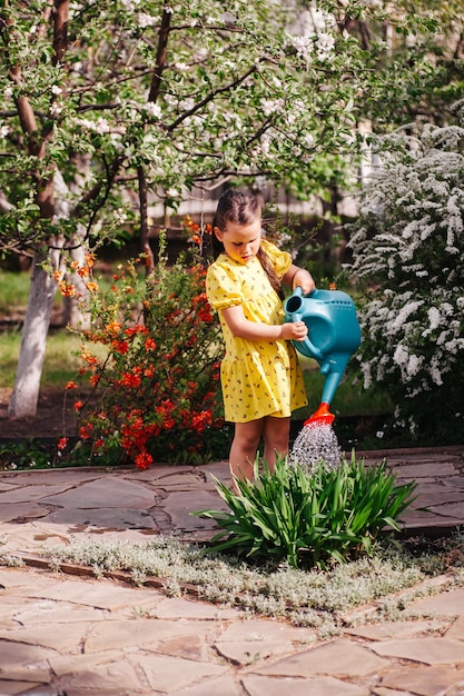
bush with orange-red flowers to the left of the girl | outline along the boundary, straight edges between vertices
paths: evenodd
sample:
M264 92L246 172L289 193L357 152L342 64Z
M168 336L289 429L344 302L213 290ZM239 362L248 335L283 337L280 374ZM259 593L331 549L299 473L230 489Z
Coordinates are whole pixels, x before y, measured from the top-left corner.
M91 264L75 269L90 290L85 309L91 316L80 350L80 379L91 391L75 402L81 445L90 458L111 454L141 469L155 459L207 458L225 438L223 348L206 271L181 262L167 269L162 246L154 275L145 276L141 259L130 260L107 291ZM71 292L70 284L61 291Z

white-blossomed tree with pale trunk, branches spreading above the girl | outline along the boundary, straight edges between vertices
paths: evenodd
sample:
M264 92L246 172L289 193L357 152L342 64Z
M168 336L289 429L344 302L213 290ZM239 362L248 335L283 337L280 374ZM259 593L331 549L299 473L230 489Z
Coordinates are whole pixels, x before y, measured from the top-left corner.
M347 182L356 119L376 103L393 119L393 87L409 95L433 72L428 18L397 17L416 42L392 60L369 37L383 8L358 0L3 1L0 245L33 269L11 417L36 411L72 257L130 222L152 262L149 197L175 208L195 182L233 176L302 197Z

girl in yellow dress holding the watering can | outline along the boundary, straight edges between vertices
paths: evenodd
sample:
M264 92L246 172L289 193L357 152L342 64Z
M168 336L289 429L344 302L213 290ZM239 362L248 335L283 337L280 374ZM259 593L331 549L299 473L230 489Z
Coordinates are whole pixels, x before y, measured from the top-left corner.
M229 466L233 481L253 479L260 439L274 470L288 453L292 411L306 406L303 372L290 339L307 335L303 321L284 324L282 284L314 290L310 274L261 237L261 203L229 189L218 201L213 242L219 255L208 268L206 291L219 314L226 345L221 362L225 418L235 424Z

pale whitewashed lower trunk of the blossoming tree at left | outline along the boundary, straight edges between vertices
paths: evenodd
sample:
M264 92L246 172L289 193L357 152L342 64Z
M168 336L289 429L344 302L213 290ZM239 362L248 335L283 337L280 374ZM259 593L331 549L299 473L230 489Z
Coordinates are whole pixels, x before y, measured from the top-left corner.
M53 278L40 266L42 260L36 252L14 387L8 405L11 419L37 414L47 334L57 291Z

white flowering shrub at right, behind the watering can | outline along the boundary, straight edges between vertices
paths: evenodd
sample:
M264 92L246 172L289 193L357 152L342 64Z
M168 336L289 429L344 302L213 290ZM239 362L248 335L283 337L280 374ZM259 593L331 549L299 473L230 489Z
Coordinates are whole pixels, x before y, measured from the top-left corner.
M356 356L364 387L388 391L395 425L431 444L464 432L463 115L461 105L454 126L385 139L347 226L349 269L366 290Z

